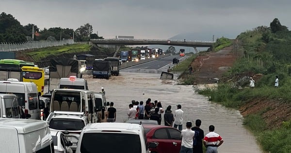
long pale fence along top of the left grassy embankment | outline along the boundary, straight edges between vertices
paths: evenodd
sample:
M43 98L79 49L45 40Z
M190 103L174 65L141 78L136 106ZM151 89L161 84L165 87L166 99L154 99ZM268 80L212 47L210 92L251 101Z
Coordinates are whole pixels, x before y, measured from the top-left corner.
M74 40L65 39L61 41L28 41L24 43L1 43L0 51L23 51L36 48L62 46L66 44L74 44Z

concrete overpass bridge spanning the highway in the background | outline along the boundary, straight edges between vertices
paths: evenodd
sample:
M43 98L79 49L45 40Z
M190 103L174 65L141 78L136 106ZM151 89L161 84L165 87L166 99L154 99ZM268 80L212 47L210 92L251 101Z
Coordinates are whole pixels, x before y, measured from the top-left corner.
M193 47L211 47L214 41L197 41L197 40L174 40L174 39L91 39L94 45L115 45L115 54L122 45L168 45L168 46L185 46Z

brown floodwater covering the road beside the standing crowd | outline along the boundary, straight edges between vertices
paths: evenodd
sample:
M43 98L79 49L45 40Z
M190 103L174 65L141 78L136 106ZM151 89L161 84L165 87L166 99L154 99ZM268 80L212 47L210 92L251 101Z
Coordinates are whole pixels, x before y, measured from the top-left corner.
M107 102L114 102L117 110L117 122L128 119L131 100L144 101L145 104L147 98L151 98L152 102L161 101L164 109L172 105L172 111L176 110L176 105L181 104L184 111L183 129L187 121L194 123L195 119L201 119L200 128L206 135L209 125L214 125L214 132L224 139L223 145L218 148L220 153L262 153L254 136L243 127L239 111L209 102L208 98L194 93L192 85L162 81L157 73L121 72L120 76L112 76L109 80L93 79L92 76L84 78L90 90L100 92L101 86L105 88Z

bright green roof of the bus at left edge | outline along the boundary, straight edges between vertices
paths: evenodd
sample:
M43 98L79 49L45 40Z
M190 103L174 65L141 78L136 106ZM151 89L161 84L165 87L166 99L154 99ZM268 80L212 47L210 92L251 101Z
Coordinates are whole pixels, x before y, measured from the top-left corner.
M16 59L1 59L0 68L22 68L23 66L34 67L33 62L25 62Z

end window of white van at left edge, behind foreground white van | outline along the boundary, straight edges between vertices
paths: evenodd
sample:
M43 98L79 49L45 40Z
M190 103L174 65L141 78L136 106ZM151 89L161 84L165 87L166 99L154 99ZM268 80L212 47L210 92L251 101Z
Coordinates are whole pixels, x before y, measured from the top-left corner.
M16 98L5 98L4 104L6 118L19 118L19 109Z

